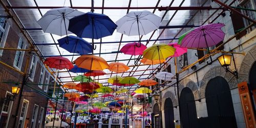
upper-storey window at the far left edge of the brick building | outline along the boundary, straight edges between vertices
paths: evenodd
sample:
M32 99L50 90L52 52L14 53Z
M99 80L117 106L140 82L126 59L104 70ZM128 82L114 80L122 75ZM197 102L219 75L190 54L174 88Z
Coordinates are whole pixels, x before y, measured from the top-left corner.
M5 17L0 17L0 48L5 47L5 42L10 29L10 25L7 24ZM2 56L3 50L0 50L0 56Z

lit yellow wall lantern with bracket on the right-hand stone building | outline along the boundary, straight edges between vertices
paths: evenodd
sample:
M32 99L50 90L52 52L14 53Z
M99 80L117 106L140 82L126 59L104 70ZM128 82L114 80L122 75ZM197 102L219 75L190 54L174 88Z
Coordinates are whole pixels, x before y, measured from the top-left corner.
M230 72L231 74L233 74L234 76L236 76L238 78L238 72L237 72L237 67L236 67L236 63L234 62L234 69L235 71L230 71L228 69L228 66L230 66L231 64L231 57L233 57L233 62L234 62L234 56L233 54L222 54L221 56L218 57L218 60L220 62L220 65L222 67L225 67L226 72Z

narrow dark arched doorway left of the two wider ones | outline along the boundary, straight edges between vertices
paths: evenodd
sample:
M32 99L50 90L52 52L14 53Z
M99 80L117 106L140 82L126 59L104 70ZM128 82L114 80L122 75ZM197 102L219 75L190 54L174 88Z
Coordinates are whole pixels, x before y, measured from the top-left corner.
M164 121L165 127L174 128L174 108L173 101L167 98L164 102Z

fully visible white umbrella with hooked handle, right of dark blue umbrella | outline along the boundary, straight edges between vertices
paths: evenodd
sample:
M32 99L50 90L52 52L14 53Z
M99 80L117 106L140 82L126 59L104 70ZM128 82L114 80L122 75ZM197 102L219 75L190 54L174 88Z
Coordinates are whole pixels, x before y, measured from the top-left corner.
M137 24L134 24L134 23ZM161 17L150 11L132 11L117 20L117 32L132 36L146 35L159 28ZM141 44L141 42L140 42ZM140 47L139 45L138 47Z

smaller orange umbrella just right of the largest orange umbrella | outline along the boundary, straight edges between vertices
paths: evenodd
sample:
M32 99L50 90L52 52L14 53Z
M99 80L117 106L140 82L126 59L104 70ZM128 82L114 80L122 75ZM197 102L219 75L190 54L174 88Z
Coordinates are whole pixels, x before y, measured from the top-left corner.
M124 63L121 62L111 62L109 66L110 67L108 69L116 73L122 73L130 69L128 66L124 65Z

